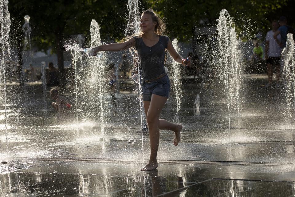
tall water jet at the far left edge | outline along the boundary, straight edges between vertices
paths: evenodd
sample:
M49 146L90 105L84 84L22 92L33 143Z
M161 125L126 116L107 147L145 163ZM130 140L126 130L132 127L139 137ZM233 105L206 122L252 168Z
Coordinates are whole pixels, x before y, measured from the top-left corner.
M10 32L10 13L8 11L8 0L2 0L0 7L0 83L3 84L3 93L1 94L1 103L5 107L5 136L6 136L6 156L8 156L8 134L7 134L7 103L6 103L6 62L10 59L10 45L9 45L9 32Z

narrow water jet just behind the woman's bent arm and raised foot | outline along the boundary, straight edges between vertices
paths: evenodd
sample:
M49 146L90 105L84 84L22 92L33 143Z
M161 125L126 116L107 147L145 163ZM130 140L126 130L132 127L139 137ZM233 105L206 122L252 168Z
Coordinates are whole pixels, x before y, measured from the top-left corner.
M178 41L176 38L173 39L172 45L175 48L176 52L179 53L178 48ZM174 119L177 121L177 124L179 124L179 111L181 107L181 98L182 96L182 90L181 90L181 73L180 73L180 66L178 62L173 61L172 62L173 72L172 72L172 79L173 79L173 85L172 90L175 94L175 100L176 100L176 114L174 116Z

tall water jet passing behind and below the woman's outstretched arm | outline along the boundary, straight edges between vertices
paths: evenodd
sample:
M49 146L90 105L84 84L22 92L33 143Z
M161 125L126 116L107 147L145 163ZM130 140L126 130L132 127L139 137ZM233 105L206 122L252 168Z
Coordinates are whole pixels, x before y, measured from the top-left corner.
M139 1L138 0L128 0L128 11L129 11L129 21L127 24L127 28L125 31L126 38L132 36L133 34L138 34L140 32L140 15L138 9ZM140 62L139 62L139 55L136 50L130 48L130 52L133 56L134 62L137 63L137 73L139 74L140 71ZM138 100L139 100L139 107L140 107L140 129L141 129L141 142L142 142L142 161L144 161L144 138L143 138L143 117L144 117L144 110L143 110L143 101L141 98L142 93L142 85L141 80L138 80Z

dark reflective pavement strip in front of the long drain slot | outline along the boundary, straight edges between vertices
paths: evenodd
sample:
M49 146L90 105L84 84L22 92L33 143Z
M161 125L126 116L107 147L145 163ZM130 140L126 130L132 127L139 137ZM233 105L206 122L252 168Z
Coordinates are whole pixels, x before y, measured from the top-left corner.
M193 197L295 194L295 183L291 182L295 181L294 177L281 179L280 176L288 171L294 172L294 167L163 164L159 170L140 172L135 170L140 167L135 164L45 162L49 165L40 168L45 164L42 163L0 174L2 195Z

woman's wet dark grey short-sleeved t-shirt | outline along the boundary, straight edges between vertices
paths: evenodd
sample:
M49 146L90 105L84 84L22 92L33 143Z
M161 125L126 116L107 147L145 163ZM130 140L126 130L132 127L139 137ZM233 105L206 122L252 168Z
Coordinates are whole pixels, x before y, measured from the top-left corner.
M154 79L164 74L166 72L164 68L165 49L169 38L160 35L159 42L151 47L146 46L141 37L134 36L133 38L135 39L135 49L139 55L144 80Z

